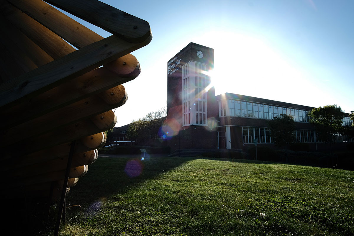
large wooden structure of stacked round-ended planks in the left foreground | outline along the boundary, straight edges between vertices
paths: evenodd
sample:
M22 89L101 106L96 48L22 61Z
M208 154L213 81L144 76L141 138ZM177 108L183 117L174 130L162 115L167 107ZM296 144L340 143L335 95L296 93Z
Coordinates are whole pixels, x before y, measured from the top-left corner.
M57 200L78 182L140 73L130 52L152 40L148 22L97 0L46 2L0 0L1 198Z

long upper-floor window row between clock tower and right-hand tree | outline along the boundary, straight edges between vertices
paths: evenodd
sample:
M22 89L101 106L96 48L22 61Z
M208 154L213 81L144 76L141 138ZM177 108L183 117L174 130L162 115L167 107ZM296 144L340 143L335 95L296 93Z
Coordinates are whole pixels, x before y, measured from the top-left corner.
M232 99L228 99L228 103L226 103L226 100L221 101L221 116L229 115L271 120L274 116L280 114L292 115L296 122L309 122L308 111L305 110Z

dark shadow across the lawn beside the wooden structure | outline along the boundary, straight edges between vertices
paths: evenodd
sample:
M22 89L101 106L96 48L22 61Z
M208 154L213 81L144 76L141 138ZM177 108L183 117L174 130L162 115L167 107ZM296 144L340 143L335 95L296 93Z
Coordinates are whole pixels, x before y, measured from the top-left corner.
M192 157L167 157L146 155L144 159L134 155L100 156L89 166L89 171L67 195L70 205L83 208L106 197L135 188L148 179L158 177Z

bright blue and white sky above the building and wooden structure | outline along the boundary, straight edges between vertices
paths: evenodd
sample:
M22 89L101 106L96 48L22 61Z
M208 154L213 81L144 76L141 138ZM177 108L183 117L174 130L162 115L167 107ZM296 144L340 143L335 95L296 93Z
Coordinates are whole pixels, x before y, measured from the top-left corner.
M115 109L116 126L166 107L167 61L190 42L214 49L216 95L354 110L352 0L103 2L149 22L153 34L132 52L141 74L123 84L128 100Z

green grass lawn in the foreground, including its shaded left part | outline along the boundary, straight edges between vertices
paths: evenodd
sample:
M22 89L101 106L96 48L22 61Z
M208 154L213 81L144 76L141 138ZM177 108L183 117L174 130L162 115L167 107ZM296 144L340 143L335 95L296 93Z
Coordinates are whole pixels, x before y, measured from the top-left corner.
M67 198L81 207L59 235L354 235L354 172L339 169L101 157Z

